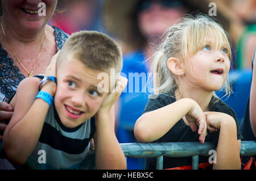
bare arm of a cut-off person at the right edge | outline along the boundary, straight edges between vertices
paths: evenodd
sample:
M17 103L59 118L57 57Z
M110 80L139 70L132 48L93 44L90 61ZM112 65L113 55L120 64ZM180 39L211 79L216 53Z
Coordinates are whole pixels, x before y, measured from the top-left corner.
M256 52L255 52L256 53ZM253 64L253 77L251 79L251 91L250 91L250 123L253 130L254 137L256 137L256 55L254 56Z

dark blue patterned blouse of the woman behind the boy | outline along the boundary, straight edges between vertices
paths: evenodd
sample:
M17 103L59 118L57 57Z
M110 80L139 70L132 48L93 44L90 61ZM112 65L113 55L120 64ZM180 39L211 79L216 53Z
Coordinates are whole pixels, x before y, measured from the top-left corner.
M58 51L63 47L69 35L55 26L52 28L54 29ZM13 64L13 60L0 43L0 102L7 102L13 98L19 82L24 78L25 76L19 72L18 66Z

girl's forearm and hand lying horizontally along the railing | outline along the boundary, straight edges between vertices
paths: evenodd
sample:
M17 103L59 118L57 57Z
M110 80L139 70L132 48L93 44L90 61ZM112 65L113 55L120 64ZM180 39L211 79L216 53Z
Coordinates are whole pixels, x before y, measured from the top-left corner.
M152 142L164 136L183 116L187 115L192 131L199 125L199 140L203 143L207 133L205 116L199 104L193 99L184 98L176 102L144 113L136 121L134 135L139 142Z

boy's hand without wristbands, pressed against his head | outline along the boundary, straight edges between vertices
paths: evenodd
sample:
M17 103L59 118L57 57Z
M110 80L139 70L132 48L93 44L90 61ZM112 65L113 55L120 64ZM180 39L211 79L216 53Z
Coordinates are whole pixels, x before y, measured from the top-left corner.
M104 111L106 113L109 113L113 104L115 103L115 101L117 101L123 89L125 89L127 85L127 81L128 79L125 77L122 77L122 76L118 77L114 90L109 93L108 97L101 104L101 107L98 112Z

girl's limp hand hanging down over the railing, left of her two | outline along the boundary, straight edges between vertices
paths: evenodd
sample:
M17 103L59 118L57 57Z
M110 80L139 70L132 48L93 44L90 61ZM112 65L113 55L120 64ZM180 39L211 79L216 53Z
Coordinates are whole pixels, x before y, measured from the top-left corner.
M185 115L185 118L188 121L188 124L193 132L197 130L197 126L199 126L198 134L199 141L203 144L205 140L205 136L207 135L207 122L205 120L205 115L199 104L193 101L193 107L191 111Z

